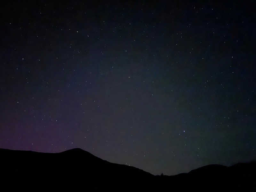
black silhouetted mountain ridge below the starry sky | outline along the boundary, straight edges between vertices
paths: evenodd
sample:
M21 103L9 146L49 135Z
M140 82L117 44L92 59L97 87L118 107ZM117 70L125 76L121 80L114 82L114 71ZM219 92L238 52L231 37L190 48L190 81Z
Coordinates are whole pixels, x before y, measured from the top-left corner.
M2 183L11 187L82 190L256 189L256 162L207 165L173 176L110 163L79 148L61 153L0 149Z

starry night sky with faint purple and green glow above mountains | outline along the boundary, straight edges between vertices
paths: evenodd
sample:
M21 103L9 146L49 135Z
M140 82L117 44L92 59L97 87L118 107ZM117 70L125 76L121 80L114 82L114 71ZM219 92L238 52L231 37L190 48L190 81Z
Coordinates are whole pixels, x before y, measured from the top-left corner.
M256 159L252 4L1 5L0 148L152 174Z

